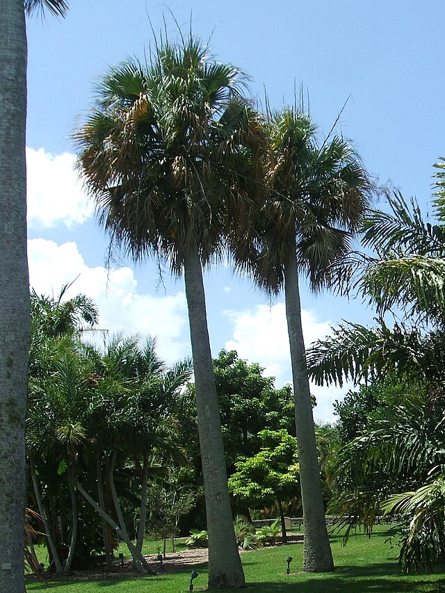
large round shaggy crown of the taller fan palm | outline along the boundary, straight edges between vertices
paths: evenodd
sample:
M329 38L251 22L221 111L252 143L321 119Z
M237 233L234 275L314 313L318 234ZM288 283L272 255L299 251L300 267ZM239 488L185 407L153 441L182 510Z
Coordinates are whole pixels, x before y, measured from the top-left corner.
M184 251L223 257L225 233L247 219L262 129L242 98L245 76L217 63L197 38L127 60L97 88L74 135L99 222L135 259L154 254L181 273ZM195 248L195 247L193 247Z

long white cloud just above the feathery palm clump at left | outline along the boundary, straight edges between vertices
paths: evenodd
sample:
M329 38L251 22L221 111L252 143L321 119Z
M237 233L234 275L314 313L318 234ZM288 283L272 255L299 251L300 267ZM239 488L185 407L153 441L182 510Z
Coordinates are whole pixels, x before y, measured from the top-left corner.
M184 293L157 296L138 293L131 268L108 271L88 268L76 243L28 242L30 284L39 294L57 295L60 287L79 276L67 296L88 295L100 311L99 327L109 332L156 336L158 353L171 363L188 355Z

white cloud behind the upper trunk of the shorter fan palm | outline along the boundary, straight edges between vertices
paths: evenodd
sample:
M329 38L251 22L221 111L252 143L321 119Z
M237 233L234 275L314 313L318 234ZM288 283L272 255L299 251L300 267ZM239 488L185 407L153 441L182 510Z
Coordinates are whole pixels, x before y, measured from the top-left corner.
M260 304L254 309L224 313L233 325L233 339L226 342L225 348L236 350L241 358L264 366L266 375L276 377L276 387L291 383L291 355L284 303L278 302L271 307ZM301 316L306 346L330 333L330 321L319 320L314 311L303 310ZM314 409L316 420L334 421L332 403L341 399L348 389L312 384L311 392L317 400Z

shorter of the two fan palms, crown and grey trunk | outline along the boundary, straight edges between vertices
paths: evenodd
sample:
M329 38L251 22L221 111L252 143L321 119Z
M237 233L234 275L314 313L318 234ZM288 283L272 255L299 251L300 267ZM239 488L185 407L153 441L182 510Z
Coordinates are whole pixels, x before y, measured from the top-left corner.
M303 569L332 571L298 282L305 274L312 289L320 288L330 264L348 252L368 204L370 184L350 144L334 136L318 146L316 127L302 111L275 113L268 122L268 137L270 195L257 231L247 246L234 241L234 255L241 270L253 273L269 293L284 288L305 520Z

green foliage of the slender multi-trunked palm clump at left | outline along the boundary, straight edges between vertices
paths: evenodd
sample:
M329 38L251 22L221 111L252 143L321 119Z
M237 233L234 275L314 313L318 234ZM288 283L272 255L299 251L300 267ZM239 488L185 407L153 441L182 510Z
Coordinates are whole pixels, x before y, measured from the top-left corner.
M151 481L165 475L168 465L186 464L179 419L190 406L184 384L191 363L167 368L156 355L155 342L136 336L113 336L104 350L83 343L83 324L95 323L96 309L82 295L63 300L66 289L58 299L31 295L26 444L43 505L51 508L49 519L54 522L60 516L50 528L62 553L72 521L81 518L74 557L79 568L102 553L104 541L92 507L75 494L74 505L73 483L93 498L102 485L102 510L113 516L115 502L108 486L114 478L131 530L144 476ZM33 498L32 493L31 507ZM106 537L111 537L108 531Z

